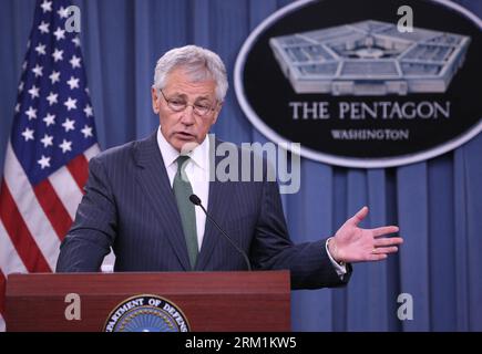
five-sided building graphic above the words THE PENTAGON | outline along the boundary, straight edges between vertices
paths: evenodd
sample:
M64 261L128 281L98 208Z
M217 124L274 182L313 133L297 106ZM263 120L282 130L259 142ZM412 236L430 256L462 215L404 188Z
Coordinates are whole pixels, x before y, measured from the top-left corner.
M443 93L463 65L470 38L367 20L275 37L269 44L296 93Z

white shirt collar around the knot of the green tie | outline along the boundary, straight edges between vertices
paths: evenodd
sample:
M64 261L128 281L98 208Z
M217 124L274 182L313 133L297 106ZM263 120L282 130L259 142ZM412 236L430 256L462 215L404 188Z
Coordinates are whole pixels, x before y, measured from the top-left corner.
M161 155L164 160L164 166L168 168L172 164L174 164L180 156L180 152L177 152L164 137L161 132L161 126L157 129L157 145L161 150ZM201 168L207 169L209 163L209 138L204 138L203 143L193 149L187 156Z

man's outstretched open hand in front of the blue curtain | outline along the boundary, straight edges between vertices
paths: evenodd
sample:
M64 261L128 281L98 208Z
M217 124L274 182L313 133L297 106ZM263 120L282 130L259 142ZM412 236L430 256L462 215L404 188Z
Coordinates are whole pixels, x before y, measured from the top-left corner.
M348 219L328 242L328 250L337 262L380 261L388 253L398 251L397 244L403 242L400 237L384 237L398 232L396 226L384 226L376 229L361 229L358 223L368 215L368 207L361 208Z

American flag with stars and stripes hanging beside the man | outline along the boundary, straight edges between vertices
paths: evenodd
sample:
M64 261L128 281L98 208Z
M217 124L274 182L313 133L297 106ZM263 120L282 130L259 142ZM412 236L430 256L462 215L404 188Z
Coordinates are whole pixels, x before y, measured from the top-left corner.
M6 278L51 272L99 153L70 3L38 0L0 185L0 331Z

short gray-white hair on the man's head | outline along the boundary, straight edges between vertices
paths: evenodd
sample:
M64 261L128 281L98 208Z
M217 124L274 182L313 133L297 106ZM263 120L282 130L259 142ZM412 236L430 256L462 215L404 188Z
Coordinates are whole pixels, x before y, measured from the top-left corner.
M226 67L219 55L197 45L174 48L157 61L152 86L164 88L167 74L177 66L185 67L194 82L209 79L216 81L216 98L223 102L228 83Z

